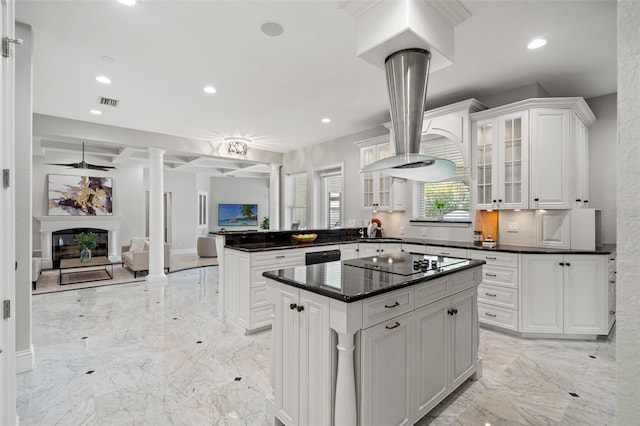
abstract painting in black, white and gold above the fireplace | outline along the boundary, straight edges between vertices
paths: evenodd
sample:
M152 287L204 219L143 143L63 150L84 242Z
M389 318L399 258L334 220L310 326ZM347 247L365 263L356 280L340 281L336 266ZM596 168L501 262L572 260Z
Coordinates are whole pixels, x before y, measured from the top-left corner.
M49 216L111 216L110 177L49 175Z

